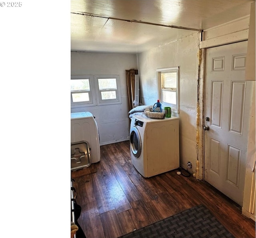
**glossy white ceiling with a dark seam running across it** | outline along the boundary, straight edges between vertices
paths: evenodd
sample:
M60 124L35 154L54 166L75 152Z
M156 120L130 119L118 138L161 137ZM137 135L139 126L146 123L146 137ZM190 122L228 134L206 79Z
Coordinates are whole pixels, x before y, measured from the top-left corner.
M255 0L71 0L71 51L140 53L248 16Z

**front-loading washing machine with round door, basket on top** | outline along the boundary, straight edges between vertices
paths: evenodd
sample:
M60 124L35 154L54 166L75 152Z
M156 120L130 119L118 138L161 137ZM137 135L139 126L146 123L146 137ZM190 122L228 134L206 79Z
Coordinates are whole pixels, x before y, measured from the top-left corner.
M133 116L130 153L133 166L145 178L179 168L179 118Z

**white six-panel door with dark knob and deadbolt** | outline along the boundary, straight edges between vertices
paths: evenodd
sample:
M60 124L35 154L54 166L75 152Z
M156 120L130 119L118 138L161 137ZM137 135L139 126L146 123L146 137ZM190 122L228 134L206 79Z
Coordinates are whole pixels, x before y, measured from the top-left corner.
M247 41L206 50L204 179L240 206L252 103L246 52Z

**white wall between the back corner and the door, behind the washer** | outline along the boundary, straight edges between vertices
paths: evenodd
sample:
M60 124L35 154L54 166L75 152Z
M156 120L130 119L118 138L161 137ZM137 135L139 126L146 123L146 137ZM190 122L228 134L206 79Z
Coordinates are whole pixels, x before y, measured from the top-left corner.
M180 165L196 170L196 112L198 96L199 33L139 54L140 93L145 105L157 97L156 69L179 66Z

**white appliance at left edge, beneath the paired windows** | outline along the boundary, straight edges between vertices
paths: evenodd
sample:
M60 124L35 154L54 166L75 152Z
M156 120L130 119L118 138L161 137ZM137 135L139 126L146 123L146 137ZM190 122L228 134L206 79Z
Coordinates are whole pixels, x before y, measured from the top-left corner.
M71 143L86 141L90 147L91 163L100 161L100 137L92 113L71 113Z

